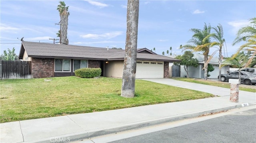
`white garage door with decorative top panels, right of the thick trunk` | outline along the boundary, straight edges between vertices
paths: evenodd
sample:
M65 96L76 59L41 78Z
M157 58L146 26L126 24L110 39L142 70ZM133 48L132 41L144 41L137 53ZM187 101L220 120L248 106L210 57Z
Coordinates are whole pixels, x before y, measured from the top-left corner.
M137 61L136 78L164 78L164 62Z

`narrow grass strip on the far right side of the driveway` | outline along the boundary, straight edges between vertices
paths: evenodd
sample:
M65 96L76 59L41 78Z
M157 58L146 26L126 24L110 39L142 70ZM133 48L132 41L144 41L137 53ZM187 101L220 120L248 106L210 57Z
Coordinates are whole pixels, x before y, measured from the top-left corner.
M212 85L212 86L218 86L218 87L224 87L224 88L230 88L230 84L228 82L220 82L220 81L212 81L212 80L201 80L201 79L195 79L195 78L173 78L175 80L181 80L186 82L193 82L193 83L199 83L199 84L206 84L206 85ZM242 87L244 86L241 84L239 86L239 90L248 91L248 92L256 92L255 86L248 86L250 88Z

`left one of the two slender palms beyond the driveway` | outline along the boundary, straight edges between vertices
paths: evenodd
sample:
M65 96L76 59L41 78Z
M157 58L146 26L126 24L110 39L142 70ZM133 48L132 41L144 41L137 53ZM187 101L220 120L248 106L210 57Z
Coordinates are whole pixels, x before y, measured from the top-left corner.
M192 39L188 41L188 43L191 43L192 45L184 45L180 48L182 51L186 49L192 49L195 52L201 51L204 55L204 80L207 80L207 70L208 70L208 55L210 51L210 32L211 32L211 26L210 24L207 26L206 23L204 23L204 28L201 29L190 29L190 31L194 32L194 35L192 35Z

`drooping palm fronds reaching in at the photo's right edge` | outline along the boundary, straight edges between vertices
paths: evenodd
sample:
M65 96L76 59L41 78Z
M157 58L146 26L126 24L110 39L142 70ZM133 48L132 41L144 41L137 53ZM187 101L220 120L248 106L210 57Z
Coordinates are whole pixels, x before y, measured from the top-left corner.
M256 55L256 18L250 19L250 25L242 27L238 30L233 45L240 43L241 41L246 41L246 43L240 46L236 54L233 55L233 58L236 57L241 51L252 53L248 63L244 65L244 67L248 67Z

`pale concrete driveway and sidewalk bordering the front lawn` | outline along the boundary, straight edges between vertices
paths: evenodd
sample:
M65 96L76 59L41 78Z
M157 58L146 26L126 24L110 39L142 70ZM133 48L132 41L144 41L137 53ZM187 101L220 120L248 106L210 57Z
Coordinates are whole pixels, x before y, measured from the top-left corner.
M172 79L145 79L152 82L208 92L220 97L155 104L134 108L30 119L0 124L1 143L58 142L88 139L149 125L193 118L244 105L256 105L256 93L240 91L239 103L229 101L228 88Z

